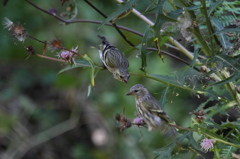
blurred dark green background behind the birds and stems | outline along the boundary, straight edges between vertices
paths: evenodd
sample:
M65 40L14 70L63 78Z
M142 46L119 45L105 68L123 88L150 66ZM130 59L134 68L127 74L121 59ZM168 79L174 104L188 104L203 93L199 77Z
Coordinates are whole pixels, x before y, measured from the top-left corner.
M91 1L106 15L118 7L114 1ZM35 3L35 2L34 2ZM136 6L144 11L148 1ZM65 11L66 4L60 1L37 1L37 5L49 10L57 9L57 14ZM103 21L96 11L84 1L77 2L76 19ZM25 1L9 1L7 6L0 6L0 19L9 18L26 28L29 35L50 42L61 39L65 48L78 46L80 54L87 54L94 62L101 64L96 49L99 45L97 35L107 38L122 52L130 48L113 27L90 23L63 25L51 17L26 3ZM148 15L154 19L154 15ZM147 27L135 15L120 19L117 24L129 27L141 33ZM141 37L123 31L129 40L138 45ZM126 96L131 86L145 85L149 91L160 99L166 85L138 76L131 76L126 85L113 79L112 74L100 71L95 79L95 87L87 97L90 82L90 68L76 68L61 74L58 72L66 64L35 56L28 57L21 42L15 40L7 29L0 29L0 154L2 157L23 159L148 159L154 158L154 150L171 142L157 131L148 132L146 128L133 126L123 132L118 129L115 120L117 113L128 118L136 117L135 101ZM36 53L41 54L43 44L26 39L25 46L31 45ZM47 49L47 56L55 57L57 51ZM142 73L141 58L138 51L127 53L133 73ZM176 53L176 55L179 55ZM184 57L183 57L184 58ZM165 56L165 62L157 53L147 55L147 72L151 74L178 75L177 71L185 67ZM193 71L193 73L195 73ZM191 74L191 72L190 72ZM196 81L189 78L194 85ZM199 104L198 99L190 92L170 88L164 110L178 125L190 123L189 112ZM69 122L69 119L73 121ZM77 122L75 122L75 120ZM67 121L67 123L65 123ZM61 125L59 125L61 124ZM71 127L72 125L72 127ZM187 145L186 145L187 146ZM175 150L176 152L176 150ZM187 152L175 158L188 158Z

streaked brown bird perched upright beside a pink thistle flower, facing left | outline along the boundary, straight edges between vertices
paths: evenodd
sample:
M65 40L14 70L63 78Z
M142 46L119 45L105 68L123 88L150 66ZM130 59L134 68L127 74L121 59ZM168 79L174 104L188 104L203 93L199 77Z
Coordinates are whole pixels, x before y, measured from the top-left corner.
M157 129L167 136L175 134L176 130L171 126L176 125L175 122L163 111L158 101L146 87L142 84L136 84L130 88L127 95L134 96L138 115L144 119L148 131Z

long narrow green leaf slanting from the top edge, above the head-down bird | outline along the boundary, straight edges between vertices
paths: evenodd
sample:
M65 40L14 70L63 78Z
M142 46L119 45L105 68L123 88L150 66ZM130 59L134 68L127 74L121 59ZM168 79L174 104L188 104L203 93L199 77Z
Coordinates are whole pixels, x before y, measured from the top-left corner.
M128 2L122 3L120 7L117 8L116 11L114 11L113 13L111 13L103 22L102 24L99 26L98 29L100 29L104 24L108 23L109 21L113 20L114 18L116 18L117 16L119 16L120 14L126 12L129 9L133 8L133 4L135 3L136 0L130 0Z

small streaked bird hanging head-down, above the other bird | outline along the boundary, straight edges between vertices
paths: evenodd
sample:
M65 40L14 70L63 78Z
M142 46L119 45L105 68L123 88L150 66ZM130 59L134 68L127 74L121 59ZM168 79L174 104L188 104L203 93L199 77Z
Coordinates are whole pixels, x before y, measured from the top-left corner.
M128 73L129 63L127 58L105 37L98 35L102 40L102 47L98 48L100 58L104 66L113 74L113 77L127 84L130 77Z

